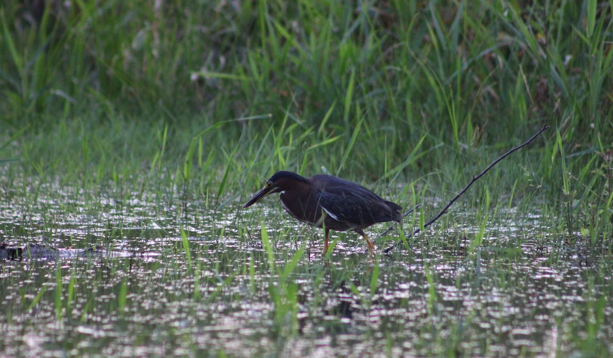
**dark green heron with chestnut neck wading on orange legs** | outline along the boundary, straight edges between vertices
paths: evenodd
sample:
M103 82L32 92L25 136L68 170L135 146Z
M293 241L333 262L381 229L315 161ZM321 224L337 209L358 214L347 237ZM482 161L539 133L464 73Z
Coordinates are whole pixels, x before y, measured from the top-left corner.
M352 230L366 240L373 257L373 242L364 229L375 223L400 222L402 207L384 200L362 185L340 177L319 174L306 178L291 171L278 171L249 200L243 209L272 193L279 196L283 209L301 222L326 231L324 252L328 252L330 230Z

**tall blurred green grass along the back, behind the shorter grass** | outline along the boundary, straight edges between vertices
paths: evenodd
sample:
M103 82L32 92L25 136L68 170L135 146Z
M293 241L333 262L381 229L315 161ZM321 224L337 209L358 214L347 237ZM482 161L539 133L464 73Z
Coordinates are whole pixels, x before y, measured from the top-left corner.
M611 138L610 4L588 3L7 1L0 112L16 128L93 108L308 126L332 108L329 130L369 112L399 136L548 122Z

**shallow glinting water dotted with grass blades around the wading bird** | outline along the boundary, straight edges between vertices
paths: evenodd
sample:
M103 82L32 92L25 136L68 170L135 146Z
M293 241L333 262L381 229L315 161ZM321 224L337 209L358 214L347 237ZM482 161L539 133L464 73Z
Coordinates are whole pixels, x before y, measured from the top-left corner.
M3 356L613 351L611 264L560 244L539 215L501 212L471 248L479 223L454 214L450 229L432 228L409 240L410 252L371 263L351 233L322 259L319 229L272 198L242 211L238 201L216 210L170 194L119 200L42 187L36 201L18 197L0 203L1 241L107 254L0 263Z

